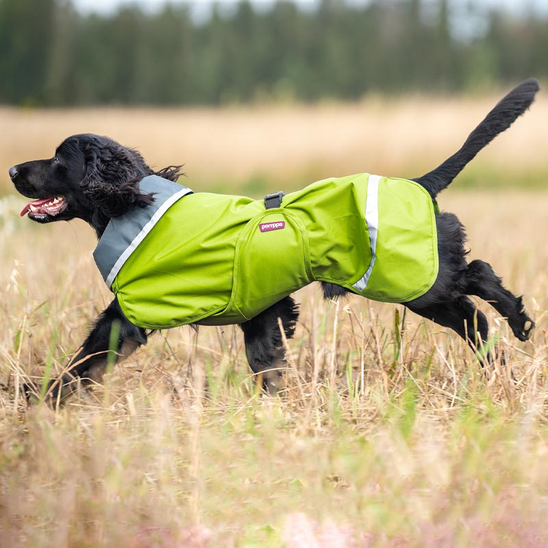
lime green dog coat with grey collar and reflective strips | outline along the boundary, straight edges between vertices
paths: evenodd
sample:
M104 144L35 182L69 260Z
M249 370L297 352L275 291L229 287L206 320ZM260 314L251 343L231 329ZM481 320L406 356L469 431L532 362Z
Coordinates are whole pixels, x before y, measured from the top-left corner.
M316 280L404 303L438 274L434 203L406 179L325 179L269 209L156 175L140 190L154 203L111 219L93 253L139 327L242 323Z

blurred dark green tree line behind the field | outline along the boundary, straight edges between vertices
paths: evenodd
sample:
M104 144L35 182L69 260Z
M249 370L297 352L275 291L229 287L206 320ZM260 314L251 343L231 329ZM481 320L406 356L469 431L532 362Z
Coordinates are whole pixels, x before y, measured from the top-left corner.
M0 0L0 103L356 99L548 76L548 18L484 20L459 36L449 0L243 1L203 20L180 4L82 14L69 0Z

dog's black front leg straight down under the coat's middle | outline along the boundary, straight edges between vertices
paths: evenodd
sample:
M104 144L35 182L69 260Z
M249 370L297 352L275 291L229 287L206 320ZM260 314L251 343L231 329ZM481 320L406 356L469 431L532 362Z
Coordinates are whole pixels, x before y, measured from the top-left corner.
M249 366L258 375L262 388L270 394L283 388L282 371L286 368L286 351L278 319L282 321L286 338L291 338L298 318L299 308L295 301L285 297L240 325Z

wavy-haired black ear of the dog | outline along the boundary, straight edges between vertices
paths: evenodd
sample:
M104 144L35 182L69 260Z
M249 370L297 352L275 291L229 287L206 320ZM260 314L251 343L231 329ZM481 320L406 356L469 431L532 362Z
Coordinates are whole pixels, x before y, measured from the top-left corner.
M153 195L139 190L140 179L151 169L138 152L110 139L94 138L86 143L84 155L82 191L105 215L116 217L153 203Z

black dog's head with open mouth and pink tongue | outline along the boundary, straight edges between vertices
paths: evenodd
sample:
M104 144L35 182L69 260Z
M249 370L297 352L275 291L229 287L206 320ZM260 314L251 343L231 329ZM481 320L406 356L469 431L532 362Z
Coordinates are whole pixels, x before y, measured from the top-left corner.
M66 138L53 158L12 166L9 173L18 192L33 200L21 216L38 223L84 219L101 234L112 217L153 201L139 191L140 179L154 173L142 156L93 134ZM176 180L180 166L157 174Z

